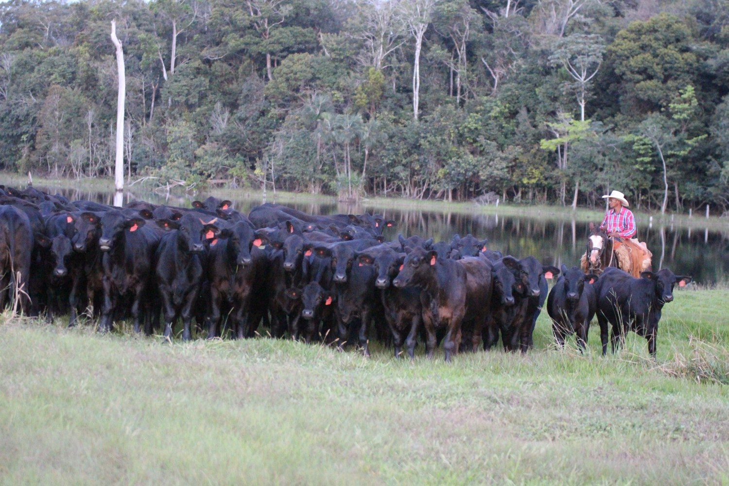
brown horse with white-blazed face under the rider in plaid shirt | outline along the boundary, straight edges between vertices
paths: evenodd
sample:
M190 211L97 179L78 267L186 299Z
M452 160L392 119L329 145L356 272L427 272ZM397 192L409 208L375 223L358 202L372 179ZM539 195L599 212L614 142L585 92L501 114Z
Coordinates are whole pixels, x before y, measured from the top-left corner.
M644 254L643 248L630 240L608 237L607 232L590 223L587 251L580 262L583 272L599 275L607 267L617 267L639 277L646 270L646 259L650 267L650 255Z

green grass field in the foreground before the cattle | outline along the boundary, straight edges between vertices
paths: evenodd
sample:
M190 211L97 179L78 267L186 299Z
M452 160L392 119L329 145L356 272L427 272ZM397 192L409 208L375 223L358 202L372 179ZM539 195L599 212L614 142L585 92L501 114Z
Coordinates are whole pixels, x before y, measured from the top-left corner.
M0 317L5 484L727 484L729 291L677 291L658 360L445 364L268 338L165 344ZM64 319L65 321L65 319ZM423 347L418 347L423 353Z

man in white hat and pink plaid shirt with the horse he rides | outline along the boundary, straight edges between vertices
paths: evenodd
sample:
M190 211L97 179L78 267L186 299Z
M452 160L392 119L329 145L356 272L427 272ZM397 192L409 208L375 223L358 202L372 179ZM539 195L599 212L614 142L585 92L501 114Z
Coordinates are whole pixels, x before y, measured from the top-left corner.
M589 267L593 271L601 271L605 266L615 264L638 277L643 270L650 268L652 254L645 243L636 238L633 211L628 209L628 200L620 191L614 190L603 198L607 198L609 210L599 229L590 235L588 252L582 256L582 270L588 272L589 260ZM595 230L592 223L590 230ZM609 248L607 255L606 248Z

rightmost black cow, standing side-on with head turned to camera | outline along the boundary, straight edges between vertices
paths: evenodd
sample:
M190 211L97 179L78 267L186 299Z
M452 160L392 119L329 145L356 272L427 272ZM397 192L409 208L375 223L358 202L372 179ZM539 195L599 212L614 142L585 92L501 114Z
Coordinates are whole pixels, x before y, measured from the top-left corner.
M628 330L648 340L648 352L655 358L655 337L663 305L674 299L674 285L685 286L691 277L674 275L664 268L657 273L642 272L634 278L614 267L608 267L598 282L598 322L600 328L612 324L611 347L620 348Z

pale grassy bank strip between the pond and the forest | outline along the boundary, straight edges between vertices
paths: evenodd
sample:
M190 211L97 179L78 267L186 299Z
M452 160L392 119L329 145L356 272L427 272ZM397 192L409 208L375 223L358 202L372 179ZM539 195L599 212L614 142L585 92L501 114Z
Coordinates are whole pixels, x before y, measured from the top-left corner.
M27 176L19 176L15 173L0 173L0 180L4 181L4 184L16 185L18 187L25 187L28 178ZM114 189L114 184L111 179L82 179L80 181L74 179L43 179L34 177L34 184L41 187L66 187L74 189L85 189L99 192L111 193ZM136 197L149 197L155 186L152 184L137 184L133 187L128 188L127 192L135 195ZM179 189L174 192L176 195L185 195L188 197L198 197L195 192L184 193ZM225 189L212 187L202 194L214 195L217 197L230 198L232 200L262 200L262 192L257 189L243 188L243 189ZM505 203L499 204L498 207L495 205L475 205L471 202L464 203L448 203L441 200L413 200L402 197L370 197L363 198L356 203L356 205L338 203L336 197L327 195L313 195L308 193L293 193L293 192L281 192L278 191L276 194L273 192L267 193L268 201L276 201L276 203L287 204L287 203L329 203L329 204L340 204L341 211L357 211L360 208L362 211L372 211L373 209L397 209L397 210L418 210L418 211L438 211L438 212L450 212L450 213L461 213L461 214L496 214L500 216L527 216L534 218L549 218L549 219L575 219L577 222L599 222L604 216L602 209L590 209L590 208L577 208L577 211L572 211L572 208L564 208L559 205L528 205L528 204L513 204ZM176 203L179 203L177 201ZM635 211L635 210L634 210ZM720 218L717 216L710 216L708 219L703 216L703 213L696 214L689 218L687 214L671 214L661 216L660 213L647 213L642 211L635 211L636 220L639 224L646 225L649 223L650 218L653 218L654 224L671 224L677 227L690 227L695 229L709 228L710 230L726 230L729 227L729 221L726 218Z

